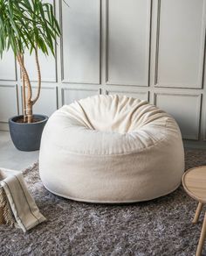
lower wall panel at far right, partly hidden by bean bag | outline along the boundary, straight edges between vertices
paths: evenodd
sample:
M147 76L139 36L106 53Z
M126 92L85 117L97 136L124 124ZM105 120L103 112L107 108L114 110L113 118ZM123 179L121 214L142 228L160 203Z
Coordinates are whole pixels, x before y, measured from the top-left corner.
M155 94L155 104L175 117L183 139L198 139L201 95Z

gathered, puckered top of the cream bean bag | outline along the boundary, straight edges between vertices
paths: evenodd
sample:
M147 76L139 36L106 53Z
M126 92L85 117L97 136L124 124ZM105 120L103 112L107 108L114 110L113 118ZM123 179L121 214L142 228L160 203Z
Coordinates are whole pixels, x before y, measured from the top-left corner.
M45 129L57 147L90 155L136 153L173 137L181 139L175 119L166 112L117 95L91 96L65 105Z

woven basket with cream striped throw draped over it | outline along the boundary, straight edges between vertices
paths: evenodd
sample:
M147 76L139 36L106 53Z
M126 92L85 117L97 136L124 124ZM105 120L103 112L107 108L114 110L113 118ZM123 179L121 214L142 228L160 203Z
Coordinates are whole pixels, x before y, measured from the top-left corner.
M26 188L23 174L0 169L0 223L17 224L25 232L44 221Z

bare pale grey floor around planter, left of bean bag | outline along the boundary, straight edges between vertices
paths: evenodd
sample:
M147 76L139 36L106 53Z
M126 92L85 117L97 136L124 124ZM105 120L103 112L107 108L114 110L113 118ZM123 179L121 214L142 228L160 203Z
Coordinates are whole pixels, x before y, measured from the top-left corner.
M10 132L0 131L0 167L24 170L38 160L38 151L17 150L10 139Z

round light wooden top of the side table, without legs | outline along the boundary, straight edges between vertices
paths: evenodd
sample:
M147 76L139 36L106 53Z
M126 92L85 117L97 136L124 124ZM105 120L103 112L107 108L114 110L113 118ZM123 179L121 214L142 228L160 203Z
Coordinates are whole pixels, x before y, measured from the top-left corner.
M206 166L189 169L182 176L182 185L189 196L206 203Z

